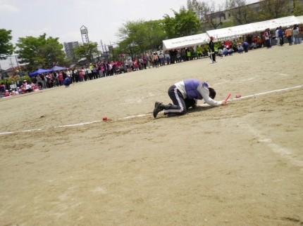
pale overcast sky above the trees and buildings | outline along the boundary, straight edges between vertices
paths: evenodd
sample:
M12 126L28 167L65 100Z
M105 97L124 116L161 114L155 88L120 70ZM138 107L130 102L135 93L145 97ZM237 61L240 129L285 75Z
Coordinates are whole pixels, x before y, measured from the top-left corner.
M216 0L223 4L225 0ZM248 0L247 2L252 2ZM12 30L12 42L19 37L44 33L59 42L82 42L80 27L88 29L89 41L114 44L118 28L128 20L158 20L173 16L187 0L0 0L0 28ZM0 61L2 69L10 62ZM16 66L16 60L13 60Z

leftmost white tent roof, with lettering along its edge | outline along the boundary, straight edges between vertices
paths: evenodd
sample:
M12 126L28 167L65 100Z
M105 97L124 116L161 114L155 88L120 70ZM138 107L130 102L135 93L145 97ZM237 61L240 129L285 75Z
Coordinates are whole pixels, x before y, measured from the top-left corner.
M177 39L163 40L163 50L173 48L184 48L188 46L198 46L206 44L209 41L209 36L206 33L184 36Z

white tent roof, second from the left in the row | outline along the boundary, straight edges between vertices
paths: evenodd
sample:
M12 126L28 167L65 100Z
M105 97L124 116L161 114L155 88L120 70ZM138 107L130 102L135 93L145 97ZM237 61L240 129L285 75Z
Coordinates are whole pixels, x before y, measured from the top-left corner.
M249 34L255 32L256 30L252 25L239 25L235 27L225 27L221 29L213 29L207 31L206 33L209 36L213 36L216 40L227 39L227 38L235 38L242 34Z

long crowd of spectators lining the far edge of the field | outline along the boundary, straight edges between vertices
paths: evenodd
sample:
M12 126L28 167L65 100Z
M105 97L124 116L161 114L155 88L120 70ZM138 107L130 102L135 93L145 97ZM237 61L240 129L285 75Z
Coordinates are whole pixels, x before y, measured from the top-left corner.
M256 48L271 48L274 44L279 46L283 46L285 43L289 45L300 44L299 34L302 34L302 27L298 25L286 27L285 30L283 30L282 27L277 27L276 32L265 29L265 32L258 34L248 34L236 39L216 41L214 50L219 58L223 58L224 56L233 55L233 53L247 53L249 50ZM33 77L29 83L27 83L26 80L23 81L23 84L19 82L16 88L8 88L8 84L1 83L1 97L30 93L32 91L39 91L56 86L69 87L69 85L73 83L208 57L209 46L208 44L204 44L188 46L186 48L176 48L168 51L154 51L152 55L146 53L139 58L133 59L129 57L111 62L102 60L81 67L38 74L36 77Z

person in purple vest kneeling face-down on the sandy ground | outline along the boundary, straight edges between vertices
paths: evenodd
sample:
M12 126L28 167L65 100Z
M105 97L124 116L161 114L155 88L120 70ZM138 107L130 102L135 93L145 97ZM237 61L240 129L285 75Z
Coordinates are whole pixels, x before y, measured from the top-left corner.
M204 81L195 79L179 81L168 89L168 95L173 100L173 105L163 105L155 102L154 118L164 110L164 114L185 114L187 109L195 107L197 100L202 100L213 106L225 105L226 101L216 101L216 91Z

